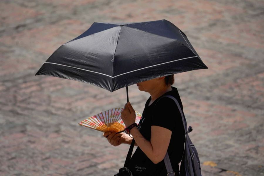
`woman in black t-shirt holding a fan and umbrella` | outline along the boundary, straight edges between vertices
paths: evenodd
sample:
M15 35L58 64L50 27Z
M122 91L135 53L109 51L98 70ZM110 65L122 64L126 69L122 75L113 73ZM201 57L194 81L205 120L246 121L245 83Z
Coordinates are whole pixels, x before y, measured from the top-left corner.
M128 167L133 176L167 175L163 161L166 152L175 175L179 173L178 164L182 159L185 142L182 117L175 101L168 97L160 99L163 95L171 95L178 100L182 108L177 88L171 86L173 83L174 75L169 75L137 84L138 89L148 92L150 97L145 103L138 127L130 130L135 145L138 146ZM135 123L135 117L133 107L129 102L126 103L121 112L125 125ZM133 139L126 133L105 132L103 135L114 146L122 143L131 144Z

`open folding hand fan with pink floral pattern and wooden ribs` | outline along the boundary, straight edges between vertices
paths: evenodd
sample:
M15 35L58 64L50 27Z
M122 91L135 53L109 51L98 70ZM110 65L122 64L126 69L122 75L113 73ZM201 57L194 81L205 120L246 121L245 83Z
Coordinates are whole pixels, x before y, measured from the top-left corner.
M91 116L87 119L82 120L78 125L89 127L98 131L106 132L120 132L123 131L126 126L121 119L121 111L123 108L113 108L101 112L97 115ZM135 122L138 124L141 119L141 114L136 112Z

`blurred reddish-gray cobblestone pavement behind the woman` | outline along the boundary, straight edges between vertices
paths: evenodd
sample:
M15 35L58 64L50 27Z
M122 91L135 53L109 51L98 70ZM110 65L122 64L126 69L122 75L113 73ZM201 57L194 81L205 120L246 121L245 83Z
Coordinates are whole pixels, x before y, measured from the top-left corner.
M126 89L38 75L48 57L93 22L166 19L209 69L175 75L202 175L264 175L264 1L2 0L0 175L114 175L129 145L77 123L123 107ZM150 96L129 86L143 111ZM134 148L135 150L135 148Z

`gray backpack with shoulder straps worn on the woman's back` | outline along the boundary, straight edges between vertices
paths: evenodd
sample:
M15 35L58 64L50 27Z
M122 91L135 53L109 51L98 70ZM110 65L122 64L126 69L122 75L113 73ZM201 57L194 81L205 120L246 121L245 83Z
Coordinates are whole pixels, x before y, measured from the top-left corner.
M185 129L185 145L184 145L184 152L182 155L182 161L181 161L179 175L180 176L202 176L201 175L201 165L200 165L200 160L198 157L197 150L194 147L194 144L192 143L192 141L188 135L188 133L190 133L192 131L192 127L189 126L189 128L187 130L187 122L186 122L185 116L183 114L183 111L182 111L180 104L177 101L177 99L175 99L171 95L165 95L163 97L169 97L175 101L175 103L177 104L178 109L180 110L180 113L182 115L182 122L183 122L183 126ZM167 159L168 157L165 157L165 158ZM165 162L165 165L166 165L167 171L170 171L168 169L169 167L167 167L167 165L168 165L171 168L171 164L170 164L169 159L167 160L167 162Z

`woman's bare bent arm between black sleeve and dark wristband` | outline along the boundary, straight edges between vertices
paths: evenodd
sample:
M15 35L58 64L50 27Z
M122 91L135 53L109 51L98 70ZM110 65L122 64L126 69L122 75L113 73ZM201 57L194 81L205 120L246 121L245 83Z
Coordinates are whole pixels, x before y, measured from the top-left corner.
M160 126L151 126L150 141L146 140L135 127L130 130L130 133L140 149L154 164L164 159L169 147L172 131Z

